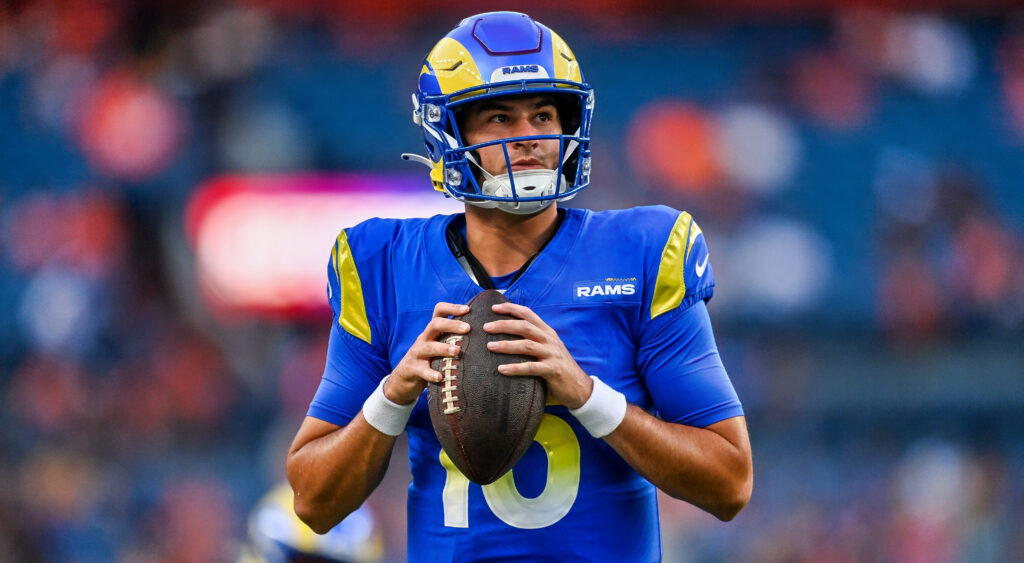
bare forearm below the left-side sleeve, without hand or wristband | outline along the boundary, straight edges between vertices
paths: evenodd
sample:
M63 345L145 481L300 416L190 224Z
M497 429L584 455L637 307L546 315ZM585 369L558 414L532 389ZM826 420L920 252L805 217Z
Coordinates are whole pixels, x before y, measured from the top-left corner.
M394 436L370 426L361 413L305 443L297 439L287 472L299 518L324 533L357 509L387 472L394 442Z

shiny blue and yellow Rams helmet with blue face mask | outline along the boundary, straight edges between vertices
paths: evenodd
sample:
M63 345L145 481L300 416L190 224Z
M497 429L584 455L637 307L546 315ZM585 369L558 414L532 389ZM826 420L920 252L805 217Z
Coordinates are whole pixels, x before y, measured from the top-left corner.
M467 145L456 115L469 104L498 96L551 94L561 134L512 137ZM498 11L463 19L430 51L413 94L413 121L423 131L426 164L434 189L457 200L509 213L536 213L568 200L590 183L590 123L594 91L575 55L548 27L523 13ZM507 169L510 142L558 139L556 170L523 170L493 176L474 151L501 144Z

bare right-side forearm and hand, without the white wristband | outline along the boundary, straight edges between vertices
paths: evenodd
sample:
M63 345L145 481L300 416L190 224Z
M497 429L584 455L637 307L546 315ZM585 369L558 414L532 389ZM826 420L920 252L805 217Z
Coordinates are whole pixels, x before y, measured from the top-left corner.
M577 364L553 329L521 305L502 303L494 310L517 320L495 321L484 330L514 334L523 340L493 342L490 349L538 358L502 365L503 374L543 377L551 395L569 408L587 402L593 380ZM623 422L604 439L655 486L721 520L735 517L751 497L753 462L742 417L696 428L666 422L629 405Z

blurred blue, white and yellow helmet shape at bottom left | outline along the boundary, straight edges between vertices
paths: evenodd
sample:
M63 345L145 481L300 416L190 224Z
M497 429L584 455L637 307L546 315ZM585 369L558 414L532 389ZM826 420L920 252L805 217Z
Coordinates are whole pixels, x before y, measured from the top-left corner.
M293 499L291 485L280 483L260 500L249 515L249 545L240 563L381 560L383 538L367 505L319 535L295 515Z

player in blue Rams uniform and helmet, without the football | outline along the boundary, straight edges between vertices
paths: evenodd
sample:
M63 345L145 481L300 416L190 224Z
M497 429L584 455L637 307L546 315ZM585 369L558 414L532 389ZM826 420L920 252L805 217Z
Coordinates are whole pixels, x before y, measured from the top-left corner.
M594 92L555 32L525 14L468 17L427 55L414 121L435 189L465 213L373 219L339 234L328 268L327 366L288 456L298 515L327 530L380 483L409 434L411 561L654 561L656 488L722 520L753 487L742 407L705 302L700 228L667 207L566 209L590 182ZM482 289L522 337L508 377L539 376L536 443L480 486L431 427L432 357L458 348Z

